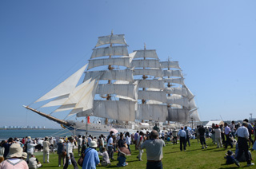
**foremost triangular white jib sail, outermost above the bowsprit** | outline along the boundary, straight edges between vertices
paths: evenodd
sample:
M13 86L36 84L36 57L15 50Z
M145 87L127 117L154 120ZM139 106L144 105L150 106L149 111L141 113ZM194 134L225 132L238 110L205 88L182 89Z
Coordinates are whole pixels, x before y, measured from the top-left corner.
M54 97L63 96L72 92L75 86L78 84L78 81L80 80L82 73L86 69L86 66L87 64L79 69L76 73L68 77L61 84L50 90L50 92L47 92L44 96L40 97L35 102L53 99Z

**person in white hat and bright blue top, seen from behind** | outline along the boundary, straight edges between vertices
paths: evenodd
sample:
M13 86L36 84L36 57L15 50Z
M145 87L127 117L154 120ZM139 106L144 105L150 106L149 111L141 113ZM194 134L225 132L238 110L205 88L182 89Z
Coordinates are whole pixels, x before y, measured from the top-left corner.
M97 143L91 141L89 148L85 151L85 158L83 159L82 169L93 169L100 162L98 158L98 152L96 151Z

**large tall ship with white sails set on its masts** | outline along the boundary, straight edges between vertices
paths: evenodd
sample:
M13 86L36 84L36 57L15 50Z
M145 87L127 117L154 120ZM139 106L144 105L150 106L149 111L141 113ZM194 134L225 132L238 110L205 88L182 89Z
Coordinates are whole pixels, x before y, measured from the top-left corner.
M46 104L37 109L24 107L61 124L73 135L107 135L113 128L118 132L146 131L154 123L186 123L191 117L199 120L193 94L178 82L182 79L170 78L177 73L170 70L173 62L166 65L159 61L156 50L146 46L130 54L127 47L123 34L98 37L88 63L35 101ZM174 83L182 85L182 89L174 88ZM180 90L186 94L178 96ZM41 112L48 107L58 108ZM67 111L68 116L78 120L53 116ZM90 123L90 118L100 121Z

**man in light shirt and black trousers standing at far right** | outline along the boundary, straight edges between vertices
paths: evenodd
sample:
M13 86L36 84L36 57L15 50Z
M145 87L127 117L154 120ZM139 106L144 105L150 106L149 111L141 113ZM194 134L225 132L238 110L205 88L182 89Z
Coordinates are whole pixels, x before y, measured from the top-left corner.
M247 128L247 122L243 121L242 127L238 128L237 135L238 135L238 155L235 158L236 162L238 163L238 159L242 156L243 153L245 153L247 166L253 166L254 163L251 163L251 159L248 153L248 143L249 140L249 132ZM236 164L237 164L236 163ZM239 163L237 164L239 166Z

